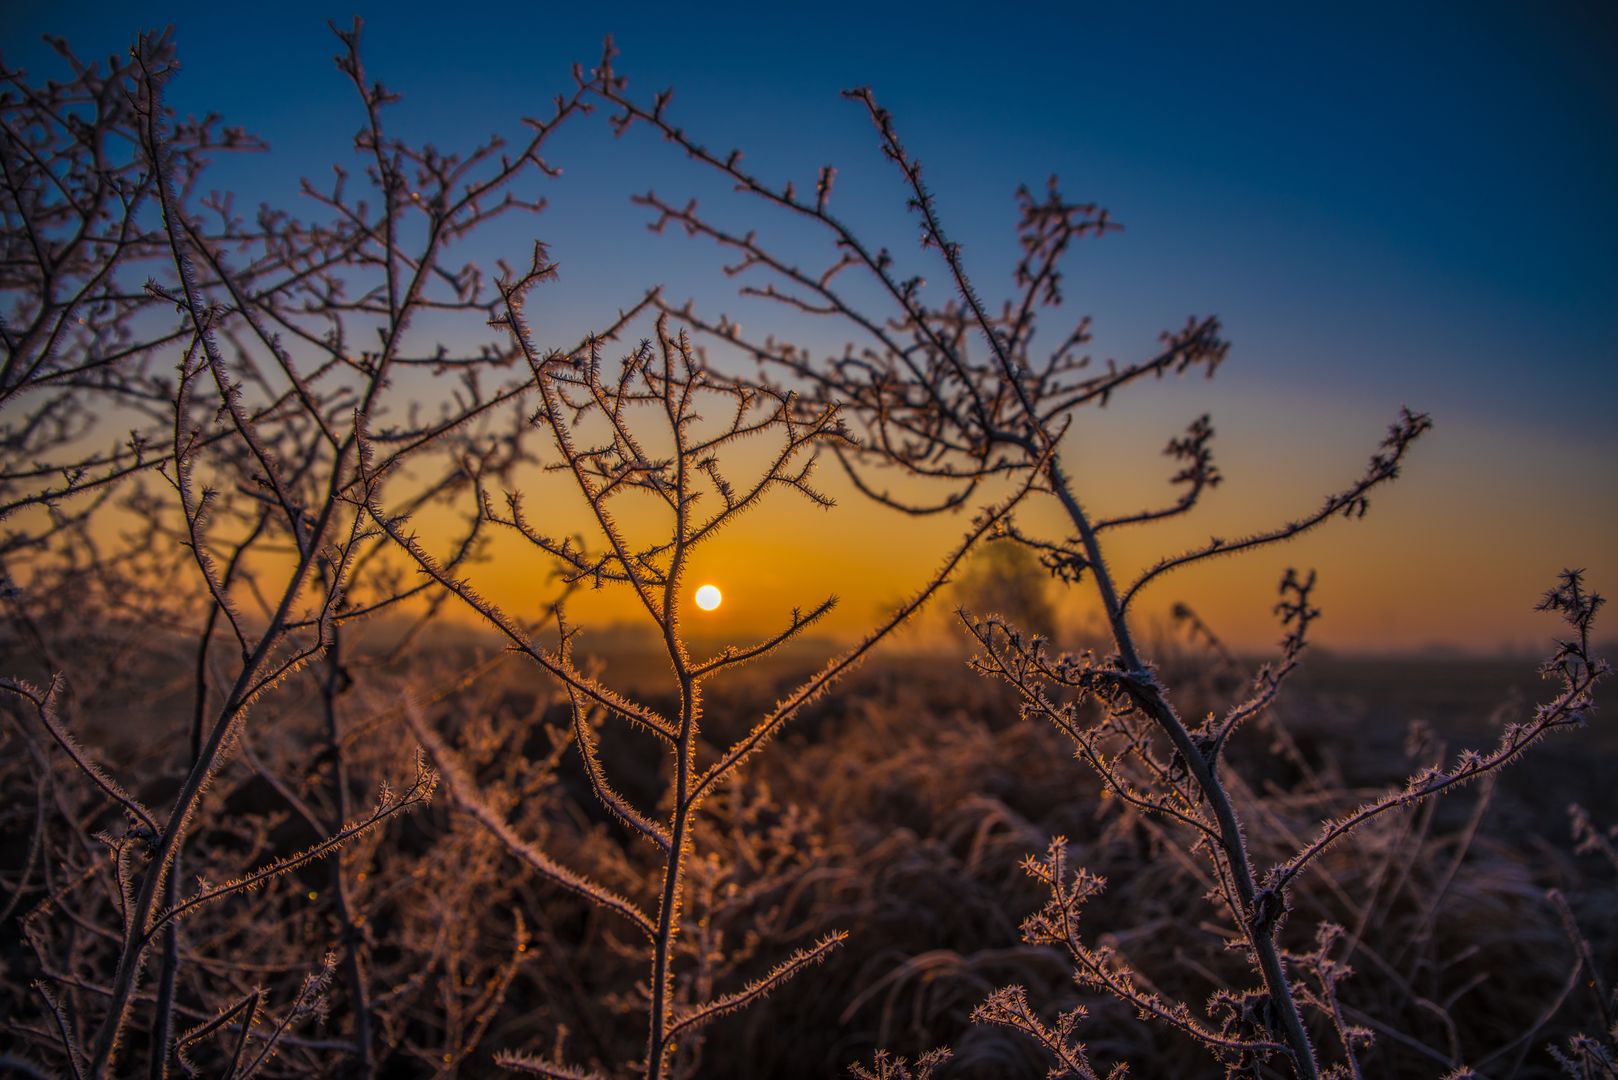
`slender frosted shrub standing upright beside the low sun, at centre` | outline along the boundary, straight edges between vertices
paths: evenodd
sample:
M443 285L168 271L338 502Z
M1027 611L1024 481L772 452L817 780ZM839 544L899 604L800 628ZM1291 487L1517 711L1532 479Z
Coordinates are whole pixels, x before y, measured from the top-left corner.
M523 316L523 301L534 285L553 272L544 248L536 249L531 270L500 287L505 296L500 322L511 332L532 372L539 395L532 423L549 434L557 458L553 468L571 478L595 538L586 541L544 533L527 518L516 492L505 495L503 507L485 495L484 515L521 534L566 585L621 588L633 596L655 628L670 665L673 708L655 709L582 669L574 661L581 630L568 625L560 609L557 646L552 649L482 597L468 580L445 572L409 534L404 521L379 505L367 508L430 578L469 604L513 649L566 688L574 743L591 790L634 839L659 855L655 874L646 882L652 887L641 889L650 895L650 905L574 873L526 842L455 767L448 746L419 722L416 730L443 766L456 803L493 832L516 860L550 884L612 912L644 941L650 968L644 1002L646 1054L637 1062L621 1062L621 1067L654 1078L693 1075L701 1061L705 1025L765 997L846 938L843 931L828 933L814 946L785 957L765 975L730 991L712 986L712 944L696 949L694 955L686 950L688 963L681 965L683 938L688 931L701 936L710 915L699 910L693 916L686 910L691 887L699 879L693 865L701 852L704 803L733 784L741 766L793 716L925 604L968 551L1005 520L1027 486L1013 492L1006 504L981 515L938 572L858 644L785 693L728 748L709 751L704 740L705 685L739 664L781 649L830 612L835 597L809 610L793 610L786 625L762 641L725 646L709 657L696 657L683 628L689 560L735 518L756 508L777 489L830 505L830 499L814 487L811 474L817 457L828 447L845 445L848 436L835 406L804 413L791 393L715 377L693 353L684 335L671 335L667 316L657 321L655 343L644 342L613 374L607 372L595 342L582 353L542 353ZM730 457L744 442L764 442L769 449L764 468L739 478ZM654 515L655 525L626 525L646 513ZM637 805L613 782L602 750L604 742L618 735L605 730L604 724L633 727L663 746L668 774L659 806ZM506 1052L498 1061L539 1075L597 1075L532 1054Z

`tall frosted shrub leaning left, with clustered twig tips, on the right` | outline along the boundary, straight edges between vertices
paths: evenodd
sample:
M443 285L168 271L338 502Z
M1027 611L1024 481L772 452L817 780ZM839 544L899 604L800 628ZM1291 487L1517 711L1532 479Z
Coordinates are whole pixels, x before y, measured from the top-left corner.
M1220 991L1199 1017L1191 1006L1149 989L1149 981L1107 949L1084 944L1078 934L1079 908L1100 881L1084 871L1066 871L1060 845L1027 863L1027 871L1050 889L1050 902L1024 925L1024 939L1068 949L1081 986L1120 997L1147 1020L1180 1030L1233 1074L1260 1070L1278 1057L1298 1077L1322 1075L1327 1057L1311 1033L1315 1014L1335 1030L1345 1054L1332 1070L1358 1075L1356 1048L1370 1033L1345 1023L1335 1007L1335 988L1345 976L1330 959L1335 931L1322 928L1311 954L1294 955L1281 941L1296 881L1335 842L1382 814L1485 776L1514 761L1547 732L1581 724L1590 691L1607 672L1589 653L1590 620L1600 599L1587 594L1581 576L1571 572L1545 597L1542 607L1563 614L1574 635L1544 667L1547 677L1561 682L1561 690L1532 721L1508 725L1489 753L1466 751L1450 766L1424 769L1404 787L1328 821L1290 858L1265 870L1254 858L1252 827L1238 810L1228 750L1246 725L1265 714L1299 664L1307 627L1319 615L1311 606L1314 575L1299 578L1290 572L1281 583L1278 612L1286 636L1280 657L1260 669L1246 699L1202 719L1176 708L1171 688L1141 646L1131 606L1144 589L1183 567L1278 544L1333 518L1362 517L1370 494L1400 474L1409 449L1430 429L1429 418L1401 410L1366 470L1315 510L1246 536L1212 538L1160 559L1133 581L1118 580L1105 557L1115 531L1184 515L1220 483L1210 449L1212 426L1201 416L1184 436L1168 442L1168 457L1180 463L1171 476L1178 497L1113 518L1086 508L1066 468L1063 436L1082 408L1105 406L1137 382L1192 369L1214 374L1228 347L1215 319L1189 319L1183 329L1163 335L1157 355L1128 366L1108 364L1103 371L1091 369L1084 355L1087 319L1036 347L1040 316L1063 301L1063 257L1076 241L1113 227L1105 210L1068 202L1055 180L1044 196L1019 191L1023 257L1014 274L1016 291L992 306L945 232L921 164L901 144L892 115L869 89L846 91L872 121L882 154L906 188L921 246L948 280L951 296L934 303L921 274L900 269L888 249L870 244L833 212L833 168L820 170L812 191L799 191L793 183L777 186L748 172L738 151L710 151L681 128L670 117L670 92L637 100L612 68L599 73L594 89L615 110L620 133L636 126L654 130L694 162L722 173L744 198L809 222L833 244L824 267L803 267L756 232L718 225L694 201L670 201L655 193L639 199L655 212L655 230L673 225L733 256L726 270L746 275L743 295L833 319L849 334L853 343L841 355L819 356L775 337L746 335L728 317L704 317L691 304L673 308L659 300L710 340L756 359L765 382L778 379L783 387L803 390L803 408L840 405L861 439L841 449L838 458L861 492L906 513L937 513L966 504L985 484L1032 476L1037 494L1055 505L1063 529L1069 529L1066 534L1037 534L1008 520L1002 539L1037 552L1063 585L1094 588L1110 648L1063 653L1002 617L963 612L979 646L974 667L1010 683L1026 716L1047 719L1069 735L1107 795L1165 823L1175 842L1202 860L1230 942L1246 955L1257 984ZM943 494L917 494L925 491L924 483L934 491L942 486ZM1299 983L1299 973L1307 984ZM1045 1022L1021 988L1008 986L992 994L976 1018L1039 1041L1058 1062L1053 1075L1094 1075L1078 1041L1082 1012Z

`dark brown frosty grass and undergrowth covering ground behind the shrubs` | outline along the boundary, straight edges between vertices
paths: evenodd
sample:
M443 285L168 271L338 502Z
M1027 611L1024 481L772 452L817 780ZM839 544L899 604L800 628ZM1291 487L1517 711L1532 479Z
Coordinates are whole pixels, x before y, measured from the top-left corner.
M104 648L108 628L97 630ZM172 774L178 761L162 738L163 717L183 693L139 690L152 685L144 674L152 657L141 644L126 648L120 682L136 690L108 685L105 699L84 701L89 714L107 714L118 701L121 717L84 735L126 774ZM1235 682L1225 661L1196 646L1167 651L1170 674L1192 695L1228 693ZM636 865L644 853L625 842L570 753L566 698L536 699L518 661L498 649L445 653L427 672L390 669L380 657L356 664L380 701L388 699L380 687L421 698L424 719L466 746L464 776L484 790L508 790L513 827L536 845L597 881L625 889L647 881ZM637 662L655 672L660 657L612 659L625 669ZM803 674L791 661L780 667L756 669L709 703L714 740L738 735L731 717L756 714ZM1511 712L1492 703L1537 682L1508 661L1322 657L1243 758L1249 780L1238 793L1241 813L1296 844L1322 818L1401 782L1446 748L1498 738ZM233 823L199 834L218 874L320 840L317 823L288 811L293 798L317 798L332 767L303 761L299 750L322 738L319 698L312 683L290 693L273 724L244 738L241 763L210 793L217 811L209 806L204 816ZM375 727L396 722L387 704L372 714ZM409 769L406 748L369 737L372 724L353 733L356 790ZM15 733L8 738L18 745ZM733 797L704 810L712 840L696 860L694 938L715 950L714 978L731 981L762 975L770 957L827 928L846 928L849 942L812 978L718 1020L697 1075L830 1077L869 1061L872 1048L914 1061L938 1044L955 1049L934 1074L940 1078L1044 1075L1048 1064L1029 1040L971 1022L979 1002L1005 984L1026 986L1050 1007L1087 1006L1086 1043L1097 1062L1129 1061L1137 1075L1207 1072L1194 1043L1081 991L1058 952L1019 944L1018 923L1044 902L1019 865L1048 837L1065 836L1071 863L1107 879L1086 908L1089 933L1142 981L1202 1001L1243 973L1197 866L1149 818L1103 798L1076 771L1058 730L1018 719L1011 695L976 678L959 657L927 656L872 662L781 742ZM647 743L608 767L626 795L655 805L665 797L657 756ZM1547 743L1500 782L1387 818L1333 850L1291 918L1345 928L1333 954L1353 970L1341 1009L1377 1035L1361 1056L1364 1075L1445 1075L1456 1062L1472 1062L1485 1077L1563 1075L1547 1048L1600 1030L1605 983L1592 980L1589 965L1602 975L1618 967L1618 861L1612 831L1603 836L1590 819L1618 821L1615 756L1612 733L1590 729ZM6 881L24 889L10 913L18 920L40 902L47 868L29 853L34 780L24 756L13 763L5 868ZM288 790L283 776L307 779ZM61 780L66 803L58 810L94 816L94 793ZM160 787L141 795L163 798ZM1569 801L1589 816L1576 810L1569 818ZM372 1002L383 1075L495 1075L495 1051L549 1051L558 1041L582 1062L628 1061L641 1049L634 1017L642 1004L633 988L644 972L621 931L589 902L524 874L453 803L440 798L401 819L356 845L343 865L343 902L366 913L371 981L390 988ZM194 873L209 876L201 866ZM70 884L60 871L49 879L58 889ZM332 868L314 863L235 907L201 912L188 939L217 959L199 965L196 997L181 1001L264 986L272 1023L290 1017L290 994L309 959L341 941L333 882ZM50 1043L28 983L52 972L16 926L10 921L6 933L8 1025L19 1044ZM186 1009L181 1023L210 1018ZM333 981L324 1014L291 1025L267 1075L351 1070L351 1023L353 999ZM235 1041L194 1048L197 1072L223 1072ZM142 1049L136 1036L131 1054Z

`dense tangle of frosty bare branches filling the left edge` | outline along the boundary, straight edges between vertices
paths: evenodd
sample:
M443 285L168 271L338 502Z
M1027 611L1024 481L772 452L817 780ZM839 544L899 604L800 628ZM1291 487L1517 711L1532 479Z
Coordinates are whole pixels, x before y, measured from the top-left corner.
M212 157L264 147L165 107L168 36L105 66L55 42L61 81L5 70L0 580L18 669L0 691L36 806L6 910L49 1015L18 1044L57 1072L126 1072L144 1052L165 1075L223 1041L222 1075L249 1075L333 986L343 1046L374 1072L364 873L338 853L422 805L435 774L417 761L390 789L400 763L353 738L348 628L429 591L367 505L427 507L523 458L502 424L526 382L484 385L513 353L424 350L409 327L489 317L481 274L448 246L537 209L513 185L549 168L542 146L584 102L558 99L524 146L443 154L388 133L396 96L366 73L358 23L338 39L361 165L306 185L312 220L204 194ZM460 384L421 408L396 389L409 369ZM479 551L482 521L466 525L451 567ZM142 727L128 763L73 733ZM354 803L359 763L382 782L374 810ZM304 908L290 878L314 886ZM256 949L273 986L238 983L220 955Z

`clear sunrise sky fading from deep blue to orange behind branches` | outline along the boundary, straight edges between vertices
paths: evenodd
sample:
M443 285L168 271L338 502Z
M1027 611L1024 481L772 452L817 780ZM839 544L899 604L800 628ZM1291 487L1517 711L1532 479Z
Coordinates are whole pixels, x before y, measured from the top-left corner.
M40 34L105 55L173 24L170 104L220 112L272 147L222 164L214 183L288 204L299 176L351 155L359 123L325 19L366 18L371 70L404 92L396 123L447 147L516 134L610 32L631 89L673 86L701 141L799 186L837 164L833 209L924 266L904 193L840 97L869 84L982 291L1010 287L1014 189L1057 173L1125 225L1069 262L1068 308L1094 316L1097 359L1146 356L1189 314L1222 317L1233 347L1214 381L1142 387L1071 436L1087 502L1108 513L1167 492L1158 450L1189 419L1207 411L1218 431L1225 484L1197 515L1121 536L1120 572L1312 510L1359 474L1401 405L1434 416L1364 521L1173 576L1147 614L1188 601L1259 646L1278 636L1275 581L1299 565L1320 572L1328 646L1537 649L1555 625L1531 607L1557 570L1586 567L1618 591L1618 8L691 6L10 3L0 49L47 71ZM654 283L773 325L735 300L712 251L647 233L628 196L701 194L744 227L773 227L767 215L600 118L566 131L553 159L565 175L550 209L469 253L524 261L536 236L552 244L561 280L536 298L545 332L599 322ZM788 230L781 243L804 241ZM783 325L840 351L841 335ZM751 518L699 565L726 588L738 631L838 593L830 625L851 633L964 528L849 499L832 515ZM883 542L848 539L877 529ZM521 593L534 576L513 567L489 573ZM1076 623L1086 602L1071 601Z

